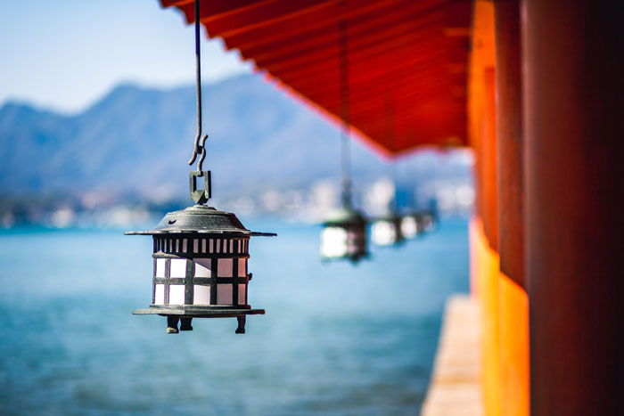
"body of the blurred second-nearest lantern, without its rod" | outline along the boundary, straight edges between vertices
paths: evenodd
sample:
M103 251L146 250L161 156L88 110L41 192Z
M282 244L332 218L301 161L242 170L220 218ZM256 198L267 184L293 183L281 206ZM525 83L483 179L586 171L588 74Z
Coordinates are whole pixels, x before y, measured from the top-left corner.
M365 216L351 208L334 209L325 218L321 233L323 260L349 259L357 263L368 257Z

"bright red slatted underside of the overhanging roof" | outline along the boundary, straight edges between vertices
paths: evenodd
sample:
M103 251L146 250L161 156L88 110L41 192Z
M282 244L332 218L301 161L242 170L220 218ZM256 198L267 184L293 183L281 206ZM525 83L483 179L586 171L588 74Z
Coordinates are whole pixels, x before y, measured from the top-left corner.
M193 0L160 3L195 19ZM201 0L200 20L209 37L336 121L343 25L352 132L396 155L466 144L471 9L469 0Z

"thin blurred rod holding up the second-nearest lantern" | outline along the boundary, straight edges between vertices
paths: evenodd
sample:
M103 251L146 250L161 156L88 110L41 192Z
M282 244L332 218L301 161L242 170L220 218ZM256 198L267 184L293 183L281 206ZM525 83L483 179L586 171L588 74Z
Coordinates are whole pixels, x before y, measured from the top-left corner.
M340 32L340 88L341 88L341 170L342 170L342 205L351 208L351 159L349 148L349 51L347 43L347 21L339 23Z

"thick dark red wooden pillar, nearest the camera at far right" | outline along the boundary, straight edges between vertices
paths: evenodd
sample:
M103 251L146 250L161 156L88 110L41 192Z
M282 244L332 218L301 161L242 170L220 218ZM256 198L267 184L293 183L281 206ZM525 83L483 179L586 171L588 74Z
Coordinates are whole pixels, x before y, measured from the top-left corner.
M523 0L531 414L622 414L624 21Z

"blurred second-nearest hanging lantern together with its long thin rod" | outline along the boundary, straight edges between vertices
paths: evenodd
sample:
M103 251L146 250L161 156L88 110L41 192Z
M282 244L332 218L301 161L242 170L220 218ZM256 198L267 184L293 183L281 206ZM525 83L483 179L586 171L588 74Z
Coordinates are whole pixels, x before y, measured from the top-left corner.
M368 257L366 247L366 219L352 207L349 160L349 67L347 60L347 23L341 21L340 85L341 110L344 125L341 131L342 208L336 208L325 217L321 232L321 258L324 261L348 259L357 263Z

